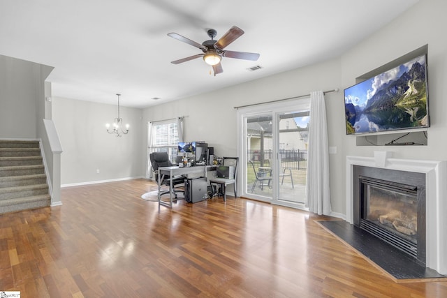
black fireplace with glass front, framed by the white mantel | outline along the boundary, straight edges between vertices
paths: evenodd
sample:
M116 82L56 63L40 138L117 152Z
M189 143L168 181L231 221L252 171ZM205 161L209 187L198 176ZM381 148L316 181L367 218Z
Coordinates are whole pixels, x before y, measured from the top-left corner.
M354 225L425 265L425 174L354 165Z

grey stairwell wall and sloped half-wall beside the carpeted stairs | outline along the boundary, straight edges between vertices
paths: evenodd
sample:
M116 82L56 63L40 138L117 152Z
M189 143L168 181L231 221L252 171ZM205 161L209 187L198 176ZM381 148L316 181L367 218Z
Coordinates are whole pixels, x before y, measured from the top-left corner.
M41 140L52 206L60 203L59 155L54 154L43 119L51 117L51 84L45 82L53 68L0 55L0 138ZM57 149L54 149L57 150Z

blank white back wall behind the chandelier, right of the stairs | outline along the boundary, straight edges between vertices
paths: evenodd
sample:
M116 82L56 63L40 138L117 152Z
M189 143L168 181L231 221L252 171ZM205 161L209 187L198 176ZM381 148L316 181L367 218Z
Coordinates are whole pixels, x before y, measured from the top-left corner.
M114 96L111 101L117 99ZM130 125L129 133L122 137L105 130L105 124L112 124L117 117L116 104L53 97L52 112L64 149L62 186L144 176L142 110L121 107L120 116Z

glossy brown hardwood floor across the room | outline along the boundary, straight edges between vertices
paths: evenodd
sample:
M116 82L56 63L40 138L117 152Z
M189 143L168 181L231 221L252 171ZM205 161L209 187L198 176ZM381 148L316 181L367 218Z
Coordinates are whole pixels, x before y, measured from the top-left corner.
M315 223L263 202L142 200L144 179L63 188L0 216L0 291L21 297L447 297L395 283Z

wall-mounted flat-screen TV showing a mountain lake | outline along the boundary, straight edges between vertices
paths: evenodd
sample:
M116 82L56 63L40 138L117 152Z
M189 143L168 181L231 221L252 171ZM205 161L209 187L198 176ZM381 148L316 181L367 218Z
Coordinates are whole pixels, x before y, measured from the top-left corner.
M426 55L344 89L344 109L348 135L429 127Z

